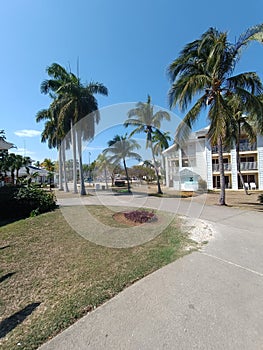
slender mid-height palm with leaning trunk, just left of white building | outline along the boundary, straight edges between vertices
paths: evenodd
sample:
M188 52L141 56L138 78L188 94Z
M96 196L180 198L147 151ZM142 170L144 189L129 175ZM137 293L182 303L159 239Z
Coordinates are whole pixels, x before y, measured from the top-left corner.
M124 126L135 126L136 128L131 132L131 136L137 133L145 132L146 133L146 148L150 148L152 152L153 165L156 172L158 193L162 194L159 170L156 164L155 151L153 148L153 133L163 137L162 132L160 131L161 121L163 119L170 120L170 115L166 111L158 111L154 113L154 106L151 104L151 97L148 95L146 103L139 102L135 108L132 108L128 112L128 119L124 122Z

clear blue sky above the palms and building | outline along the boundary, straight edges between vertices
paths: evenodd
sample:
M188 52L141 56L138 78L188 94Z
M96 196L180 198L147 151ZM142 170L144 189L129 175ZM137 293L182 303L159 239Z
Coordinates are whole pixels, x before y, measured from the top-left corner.
M57 62L76 73L79 59L82 81L99 81L109 89L108 97L98 97L101 108L146 101L150 94L155 105L168 109L166 69L184 45L209 27L228 31L234 42L248 27L262 22L262 13L262 0L2 2L0 129L17 146L17 153L55 160L56 152L40 142L43 124L35 122L36 113L50 103L40 93L48 65ZM262 55L262 45L249 46L237 72L256 71L263 78ZM183 118L177 110L172 112ZM111 122L116 125L119 120L112 116ZM205 125L204 115L195 128ZM174 134L173 121L164 126L166 130ZM91 161L98 154L95 147L104 146L101 139L107 141L95 137Z

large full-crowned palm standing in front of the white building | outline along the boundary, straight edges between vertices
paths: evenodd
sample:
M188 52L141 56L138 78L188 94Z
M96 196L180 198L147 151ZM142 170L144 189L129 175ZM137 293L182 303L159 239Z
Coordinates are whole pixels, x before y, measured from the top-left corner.
M168 68L172 84L169 90L170 108L178 105L185 111L191 105L177 129L179 142L188 137L201 111L208 108L208 138L212 144L217 144L219 154L220 205L225 205L223 143L234 127L232 109L226 102L226 96L236 94L246 97L251 103L258 103L255 95L261 92L262 85L257 74L232 73L241 50L252 40L262 40L262 34L263 24L248 29L232 44L227 40L226 32L210 28L200 39L187 44Z

